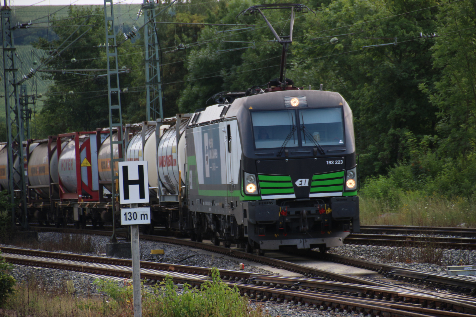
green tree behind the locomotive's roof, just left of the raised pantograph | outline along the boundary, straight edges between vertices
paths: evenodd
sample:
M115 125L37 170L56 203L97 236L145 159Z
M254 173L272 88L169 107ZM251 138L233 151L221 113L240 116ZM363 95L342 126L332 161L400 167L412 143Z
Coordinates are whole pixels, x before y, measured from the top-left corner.
M256 24L254 30L237 30L217 33L223 27L206 27L199 33L198 40L203 44L188 54L185 77L185 89L178 99L182 112L194 111L209 106L213 101L206 101L218 93L227 90L246 90L250 86L261 86L279 75L279 58L281 46L270 42L271 31L260 16L238 17L237 14L258 1L231 0L218 7L213 23ZM269 10L266 12L270 21L277 25L278 32L284 28L289 12ZM211 18L208 19L211 22ZM289 25L289 24L287 24ZM243 27L227 28L242 29ZM236 42L227 42L236 41ZM256 48L248 48L253 46Z

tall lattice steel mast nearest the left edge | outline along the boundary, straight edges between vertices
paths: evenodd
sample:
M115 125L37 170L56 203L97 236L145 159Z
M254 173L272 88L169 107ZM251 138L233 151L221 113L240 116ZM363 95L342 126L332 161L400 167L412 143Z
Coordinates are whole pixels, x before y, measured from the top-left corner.
M18 68L16 66L15 43L13 41L13 29L11 25L11 10L4 0L4 6L0 10L3 48L3 83L5 89L5 114L7 124L7 153L8 169L8 192L10 194L11 221L16 225L16 210L20 207L22 215L18 219L23 228L28 228L28 213L26 204L25 171L23 165L23 122L22 109L20 106L19 86L17 80ZM18 165L15 166L15 158ZM16 199L15 199L16 198ZM20 203L20 206L18 206Z

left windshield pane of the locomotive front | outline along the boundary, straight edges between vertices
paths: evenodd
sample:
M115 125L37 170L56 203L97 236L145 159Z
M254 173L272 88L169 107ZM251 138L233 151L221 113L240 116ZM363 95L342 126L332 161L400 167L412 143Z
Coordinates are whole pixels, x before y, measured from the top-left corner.
M296 112L294 110L252 112L251 119L257 149L281 147L296 125ZM286 146L297 145L295 130Z

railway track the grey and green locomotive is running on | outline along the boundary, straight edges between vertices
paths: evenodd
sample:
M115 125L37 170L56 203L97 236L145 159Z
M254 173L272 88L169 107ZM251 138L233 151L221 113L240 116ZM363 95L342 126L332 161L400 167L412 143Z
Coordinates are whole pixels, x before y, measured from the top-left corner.
M56 231L69 233L87 233L108 236L110 232L107 231L93 231L93 230L74 230L74 229L55 229L55 228L35 228L39 231ZM225 248L215 246L213 244L190 241L186 239L178 239L173 237L162 237L153 235L140 235L140 239L153 240L171 244L177 244L196 249L207 250L223 255L233 257L235 259L246 259L254 263L266 264L270 267L284 269L300 274L305 278L320 278L328 281L335 281L340 283L360 284L370 286L387 287L391 284L401 285L405 287L417 288L438 288L445 291L464 294L468 296L476 296L476 280L463 279L447 275L435 274L415 269L400 268L383 263L366 261L361 259L352 259L332 254L325 254L324 256L317 251L293 250L293 254L301 257L297 259L289 258L288 255L282 252L270 253L269 257L258 256L243 252L237 249ZM313 263L319 260L320 262ZM347 266L343 270L332 270L325 267L324 264L337 263L339 265ZM356 267L363 269L361 273L354 273L349 275L351 268ZM352 273L350 273L352 274Z

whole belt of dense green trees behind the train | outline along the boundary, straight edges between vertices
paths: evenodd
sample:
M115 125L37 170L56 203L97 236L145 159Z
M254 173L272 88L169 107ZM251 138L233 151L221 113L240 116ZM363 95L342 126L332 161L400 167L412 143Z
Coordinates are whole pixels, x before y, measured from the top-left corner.
M256 15L237 18L249 5L264 2L182 0L159 15L158 21L256 25L157 25L166 116L206 106L219 91L263 85L278 77L281 48L264 20ZM363 193L393 200L397 188L470 198L476 189L474 1L302 3L317 16L297 13L286 77L297 86L323 84L346 98L354 114ZM78 17L74 24L93 27L50 63L51 69L105 68L99 13L94 7L69 8L69 17ZM278 33L287 34L289 12L266 14ZM71 20L52 24L59 27L55 39L40 38L36 47L51 50L76 29L69 26ZM332 37L338 42L331 44ZM119 67L130 69L120 75L121 87L129 90L121 94L124 122L145 119L142 43L139 38L119 47ZM180 44L185 49L176 49ZM379 44L390 45L375 47ZM77 60L74 65L71 58ZM41 136L108 125L107 83L96 76L100 72L51 74L45 76L54 85L43 96L46 106L36 118Z

